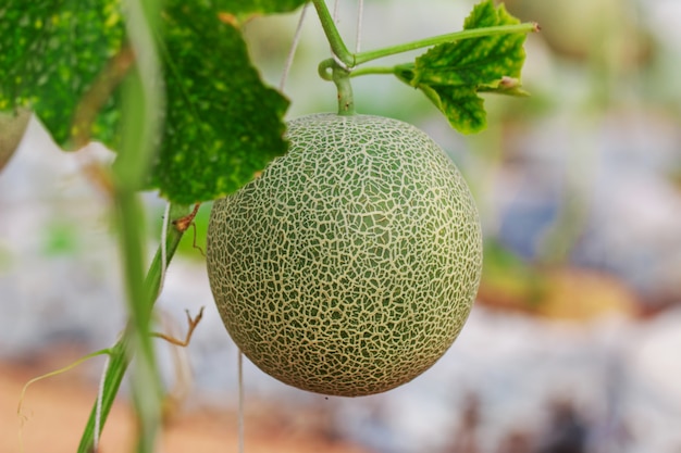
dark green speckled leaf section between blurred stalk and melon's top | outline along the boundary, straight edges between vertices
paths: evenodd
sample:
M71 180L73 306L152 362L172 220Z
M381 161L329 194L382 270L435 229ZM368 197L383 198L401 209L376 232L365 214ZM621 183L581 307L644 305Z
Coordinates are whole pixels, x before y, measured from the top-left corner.
M166 125L151 187L182 204L212 200L286 151L288 101L265 87L240 33L197 3L164 14Z

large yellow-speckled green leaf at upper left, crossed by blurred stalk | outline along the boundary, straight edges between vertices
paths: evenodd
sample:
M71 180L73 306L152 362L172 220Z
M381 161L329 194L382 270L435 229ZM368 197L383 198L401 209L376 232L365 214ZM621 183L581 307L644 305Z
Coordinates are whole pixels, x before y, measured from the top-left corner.
M166 111L150 189L183 204L212 200L286 150L288 101L262 84L225 17L304 2L166 2L157 36ZM0 5L0 111L32 109L66 149L87 140L115 149L117 87L134 64L125 36L120 0L9 0Z

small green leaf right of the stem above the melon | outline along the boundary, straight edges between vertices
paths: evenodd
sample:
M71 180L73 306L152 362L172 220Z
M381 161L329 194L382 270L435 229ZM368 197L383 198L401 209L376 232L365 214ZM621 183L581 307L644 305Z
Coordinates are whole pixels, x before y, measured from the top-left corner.
M485 0L466 18L463 29L519 24L504 5ZM520 72L525 34L503 34L446 42L430 49L414 63L396 67L395 75L421 89L462 134L483 130L486 114L479 92L525 96Z

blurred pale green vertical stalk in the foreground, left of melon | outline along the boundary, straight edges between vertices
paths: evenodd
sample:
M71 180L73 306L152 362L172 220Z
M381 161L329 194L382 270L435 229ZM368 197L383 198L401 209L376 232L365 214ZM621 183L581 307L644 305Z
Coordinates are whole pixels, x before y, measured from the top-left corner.
M163 399L153 342L150 337L151 306L145 288L144 210L138 190L144 187L161 121L164 98L158 80L161 65L154 43L160 0L124 0L127 39L135 54L135 66L123 85L122 137L113 168L115 219L123 261L129 317L128 350L123 360L135 355L131 388L137 415L137 452L154 451L161 425Z

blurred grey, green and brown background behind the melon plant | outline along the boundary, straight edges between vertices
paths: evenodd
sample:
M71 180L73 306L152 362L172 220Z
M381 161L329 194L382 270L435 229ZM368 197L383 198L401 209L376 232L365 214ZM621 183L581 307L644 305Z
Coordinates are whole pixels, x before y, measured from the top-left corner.
M338 26L354 48L357 1L342 3ZM364 3L362 49L458 30L473 5ZM486 97L484 133L457 134L397 79L354 81L360 113L429 133L478 201L484 275L459 339L412 382L360 399L299 391L246 361L246 451L681 452L681 2L506 4L542 26L525 46L523 87L532 97ZM273 86L298 16L246 26ZM317 77L327 54L310 9L284 87L290 117L335 110L333 85ZM92 159L112 156L97 146L63 153L34 119L0 173L3 452L20 451L20 425L27 452L46 451L40 442L75 449L103 358L34 385L23 424L21 386L111 345L125 323L109 206L83 169ZM164 204L152 193L145 202L151 253ZM199 247L209 211L203 205L197 217ZM177 336L185 310L206 306L189 348L158 343L169 388L164 451L236 452L237 351L193 236L158 302L159 330ZM120 441L134 431L126 411L123 400L104 431L106 451L126 451ZM59 428L65 419L76 421ZM207 439L214 443L200 443Z

